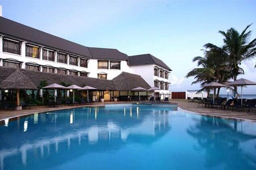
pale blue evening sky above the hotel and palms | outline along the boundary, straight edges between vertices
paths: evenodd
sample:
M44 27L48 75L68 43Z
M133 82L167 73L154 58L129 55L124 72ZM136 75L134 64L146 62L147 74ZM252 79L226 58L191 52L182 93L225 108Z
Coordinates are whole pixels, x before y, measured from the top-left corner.
M203 56L206 43L223 44L219 30L241 32L252 24L256 1L1 1L3 17L89 47L116 48L127 55L152 54L173 71L171 91L200 89L184 78ZM256 81L256 60L242 62L245 78ZM256 94L256 86L243 89ZM226 94L226 90L221 90Z

